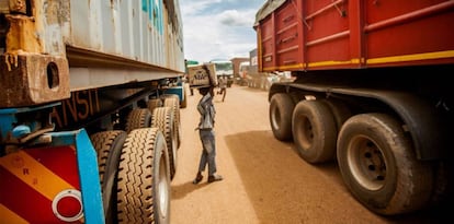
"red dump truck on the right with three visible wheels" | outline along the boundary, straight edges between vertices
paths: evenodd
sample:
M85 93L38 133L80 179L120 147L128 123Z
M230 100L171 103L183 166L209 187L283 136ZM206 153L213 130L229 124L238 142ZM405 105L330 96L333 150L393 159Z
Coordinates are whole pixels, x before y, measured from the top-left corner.
M259 70L274 138L307 163L337 163L379 215L442 205L453 193L454 1L268 0ZM451 139L451 140L450 140Z

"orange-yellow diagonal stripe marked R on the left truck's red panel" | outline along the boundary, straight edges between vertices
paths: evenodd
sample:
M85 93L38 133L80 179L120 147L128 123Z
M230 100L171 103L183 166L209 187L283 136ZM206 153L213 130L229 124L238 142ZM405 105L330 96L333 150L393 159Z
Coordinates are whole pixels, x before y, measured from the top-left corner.
M61 190L75 189L23 151L0 158L0 165L50 201Z

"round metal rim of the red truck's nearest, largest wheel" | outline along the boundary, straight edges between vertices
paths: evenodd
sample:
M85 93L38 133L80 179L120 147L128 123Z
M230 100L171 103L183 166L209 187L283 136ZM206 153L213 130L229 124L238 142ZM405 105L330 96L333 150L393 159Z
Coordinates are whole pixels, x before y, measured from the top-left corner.
M354 179L367 190L378 190L385 185L386 161L378 145L361 135L352 139L347 151L347 161Z

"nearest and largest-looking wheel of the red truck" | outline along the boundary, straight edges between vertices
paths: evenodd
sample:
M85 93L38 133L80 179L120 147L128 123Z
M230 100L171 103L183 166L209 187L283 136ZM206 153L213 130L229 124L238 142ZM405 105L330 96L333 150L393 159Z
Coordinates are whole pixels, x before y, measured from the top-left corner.
M338 163L352 194L375 213L407 213L430 200L432 166L417 161L402 123L388 115L347 120L339 133Z

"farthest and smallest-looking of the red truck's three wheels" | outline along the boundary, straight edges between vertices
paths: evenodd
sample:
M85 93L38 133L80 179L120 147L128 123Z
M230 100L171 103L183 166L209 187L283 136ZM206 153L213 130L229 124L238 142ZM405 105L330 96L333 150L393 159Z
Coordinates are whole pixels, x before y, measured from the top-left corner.
M270 123L274 138L292 140L292 113L295 107L290 95L276 93L270 101Z

